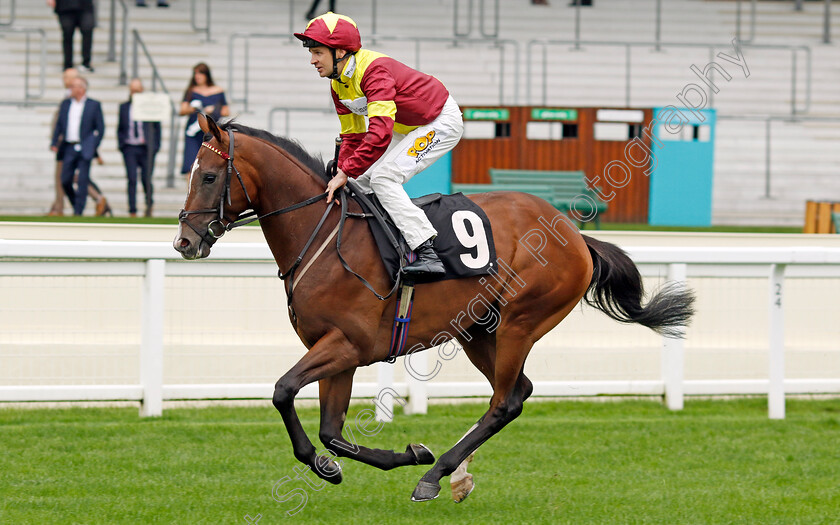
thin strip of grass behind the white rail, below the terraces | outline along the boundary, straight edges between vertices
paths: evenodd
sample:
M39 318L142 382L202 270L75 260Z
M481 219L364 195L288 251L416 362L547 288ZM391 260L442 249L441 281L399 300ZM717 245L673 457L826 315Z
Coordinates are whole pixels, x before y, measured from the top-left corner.
M83 224L178 224L178 217L43 217L31 215L0 215L0 222L78 222ZM254 223L255 225L258 223ZM593 230L594 226L585 225L586 230ZM651 226L644 223L605 222L602 230L621 231L662 231L662 232L723 232L723 233L802 233L802 228L782 226Z

